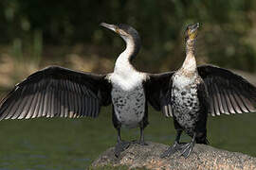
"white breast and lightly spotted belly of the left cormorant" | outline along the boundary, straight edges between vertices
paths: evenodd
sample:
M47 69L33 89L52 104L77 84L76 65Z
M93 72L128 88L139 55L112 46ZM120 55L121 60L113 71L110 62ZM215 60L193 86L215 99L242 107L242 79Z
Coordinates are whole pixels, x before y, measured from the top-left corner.
M112 102L117 118L124 127L137 127L143 119L145 110L145 93L142 86L144 75L130 72L127 75L113 73Z

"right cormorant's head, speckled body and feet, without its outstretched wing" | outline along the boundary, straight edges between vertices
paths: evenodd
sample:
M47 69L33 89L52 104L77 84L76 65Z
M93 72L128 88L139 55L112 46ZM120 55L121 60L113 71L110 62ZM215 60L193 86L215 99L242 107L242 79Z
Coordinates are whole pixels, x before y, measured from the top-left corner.
M177 150L181 150L181 155L188 157L195 143L208 143L206 138L208 95L204 81L198 75L194 58L194 42L198 26L198 24L188 26L186 59L172 76L173 84L169 100L173 108L174 127L177 134L174 144L161 155L162 158L174 154ZM192 137L192 141L184 145L179 142L183 130Z

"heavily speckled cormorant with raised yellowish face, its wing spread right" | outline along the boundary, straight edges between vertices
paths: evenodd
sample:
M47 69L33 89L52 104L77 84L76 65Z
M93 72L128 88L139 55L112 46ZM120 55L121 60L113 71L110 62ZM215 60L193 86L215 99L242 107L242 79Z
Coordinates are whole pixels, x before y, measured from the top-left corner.
M186 59L170 79L163 99L163 112L174 117L177 133L174 144L162 158L178 150L187 158L195 143L208 144L208 113L215 116L256 111L256 88L242 76L211 65L196 67L194 45L198 27L199 24L194 24L186 29ZM192 137L190 143L179 143L182 131Z

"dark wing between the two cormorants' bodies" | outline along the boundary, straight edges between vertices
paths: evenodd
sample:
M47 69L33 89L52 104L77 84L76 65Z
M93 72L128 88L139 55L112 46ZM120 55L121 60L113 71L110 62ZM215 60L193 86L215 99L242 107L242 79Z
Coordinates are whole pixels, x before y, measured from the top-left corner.
M174 72L162 74L147 74L146 81L147 99L155 110L162 110L166 116L173 116L170 98ZM170 88L171 87L171 88Z

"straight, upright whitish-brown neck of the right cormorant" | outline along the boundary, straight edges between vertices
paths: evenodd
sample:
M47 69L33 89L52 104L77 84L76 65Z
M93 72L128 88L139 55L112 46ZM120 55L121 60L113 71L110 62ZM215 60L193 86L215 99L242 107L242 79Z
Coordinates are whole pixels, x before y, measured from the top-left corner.
M186 59L184 60L183 65L181 67L181 69L186 72L196 71L196 60L194 58L194 46L195 46L195 40L186 41Z

